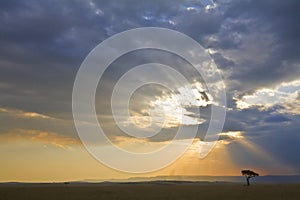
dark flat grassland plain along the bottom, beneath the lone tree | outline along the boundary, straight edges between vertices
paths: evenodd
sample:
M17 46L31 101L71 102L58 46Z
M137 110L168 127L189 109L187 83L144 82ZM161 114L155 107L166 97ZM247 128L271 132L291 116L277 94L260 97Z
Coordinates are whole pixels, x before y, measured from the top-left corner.
M300 199L300 184L54 183L0 184L0 200L14 199Z

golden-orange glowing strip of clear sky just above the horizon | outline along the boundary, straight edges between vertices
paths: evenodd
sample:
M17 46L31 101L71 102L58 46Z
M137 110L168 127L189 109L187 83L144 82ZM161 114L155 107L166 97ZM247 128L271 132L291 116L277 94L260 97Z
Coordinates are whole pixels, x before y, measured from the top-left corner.
M229 139L218 141L203 159L199 158L199 149L207 143L195 139L175 163L162 170L138 176L240 175L240 169L244 166L234 162L228 148L233 142L241 145L268 165L276 166L277 171L267 169L268 172L276 174L290 171L289 167L279 163L261 147L247 140L243 134L241 131L221 133L221 136ZM78 140L53 132L17 129L15 133L1 135L0 141L0 181L99 181L133 176L102 165L89 155ZM140 153L153 151L170 142L150 142L128 137L117 137L114 141L128 151ZM262 170L258 169L261 174L264 174Z

